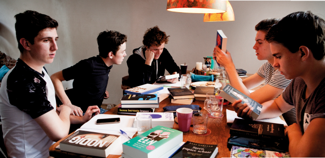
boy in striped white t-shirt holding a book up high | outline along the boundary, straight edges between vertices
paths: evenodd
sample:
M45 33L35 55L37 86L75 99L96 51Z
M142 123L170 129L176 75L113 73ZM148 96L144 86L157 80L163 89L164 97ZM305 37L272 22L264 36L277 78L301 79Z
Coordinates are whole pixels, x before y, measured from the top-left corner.
M270 44L265 40L265 35L273 24L278 23L280 19L264 19L255 25L257 31L255 37L255 45L253 49L256 52L258 60L267 60L256 73L241 80L238 76L235 64L233 63L230 52L223 52L219 47L215 47L213 56L217 62L224 66L229 75L231 85L249 96L258 103L264 103L278 97L284 89L290 84L291 80L287 80L284 75L280 74L277 68L272 66L274 58L271 54ZM265 86L250 93L248 90L265 82ZM296 111L291 109L283 114L283 117L288 125L296 123Z

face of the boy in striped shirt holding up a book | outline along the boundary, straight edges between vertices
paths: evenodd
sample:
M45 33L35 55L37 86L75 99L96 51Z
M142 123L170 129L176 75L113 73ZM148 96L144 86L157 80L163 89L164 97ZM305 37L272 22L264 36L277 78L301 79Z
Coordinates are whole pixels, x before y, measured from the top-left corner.
M256 52L256 56L258 60L272 60L271 50L270 50L270 44L265 41L265 35L266 32L264 31L257 31L256 37L255 37L255 45L253 49Z

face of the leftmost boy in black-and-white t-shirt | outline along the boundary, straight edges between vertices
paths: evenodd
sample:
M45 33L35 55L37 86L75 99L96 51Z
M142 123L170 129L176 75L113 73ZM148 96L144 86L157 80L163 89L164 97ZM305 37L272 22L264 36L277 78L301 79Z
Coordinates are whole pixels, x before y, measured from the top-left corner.
M58 39L56 28L45 28L34 38L34 45L28 42L32 62L37 66L52 63L57 48Z

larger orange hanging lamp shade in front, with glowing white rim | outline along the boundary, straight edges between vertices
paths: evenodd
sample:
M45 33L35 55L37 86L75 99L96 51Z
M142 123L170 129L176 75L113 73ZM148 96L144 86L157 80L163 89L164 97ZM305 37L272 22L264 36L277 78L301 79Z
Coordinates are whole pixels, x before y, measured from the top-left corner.
M222 0L167 0L167 10L181 13L224 13Z

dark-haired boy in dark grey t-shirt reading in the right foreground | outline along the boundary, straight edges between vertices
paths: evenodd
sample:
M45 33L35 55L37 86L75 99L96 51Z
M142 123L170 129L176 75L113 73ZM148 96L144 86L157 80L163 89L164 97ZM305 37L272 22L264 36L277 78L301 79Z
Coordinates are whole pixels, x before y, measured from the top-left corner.
M266 40L277 67L293 79L275 100L263 103L259 119L296 107L297 123L286 128L291 157L325 157L325 21L310 11L296 12L271 27ZM251 119L251 107L233 103L237 115Z

